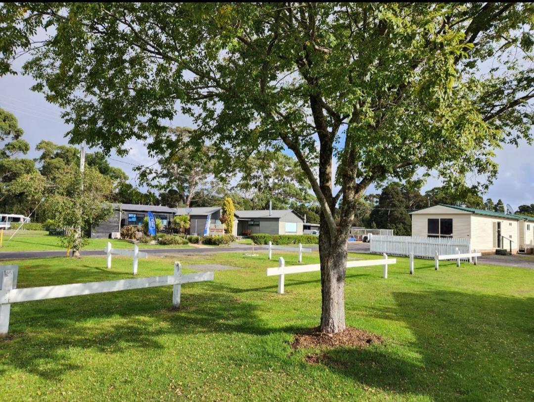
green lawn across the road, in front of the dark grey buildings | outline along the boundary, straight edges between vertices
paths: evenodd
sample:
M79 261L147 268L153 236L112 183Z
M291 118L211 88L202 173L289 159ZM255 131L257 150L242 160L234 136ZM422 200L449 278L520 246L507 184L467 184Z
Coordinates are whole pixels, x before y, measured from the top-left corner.
M0 251L53 251L66 250L59 245L58 236L50 236L48 232L19 231L13 239L7 241L11 235L4 235L3 245ZM107 242L111 242L114 248L131 248L133 244L119 239L89 239L89 244L83 250L104 250ZM162 246L139 243L139 248L189 248L189 245Z

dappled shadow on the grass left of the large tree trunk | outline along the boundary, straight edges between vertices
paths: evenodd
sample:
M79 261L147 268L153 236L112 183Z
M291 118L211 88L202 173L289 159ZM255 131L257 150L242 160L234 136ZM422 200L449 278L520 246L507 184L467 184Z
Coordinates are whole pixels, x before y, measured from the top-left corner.
M13 339L0 343L0 358L5 365L54 380L83 367L66 356L72 348L117 353L131 348L165 349L160 337L169 334L261 336L300 329L271 330L262 325L254 304L232 297L231 288L218 283L184 286L197 289L182 296L178 309L172 308L171 287L13 304Z

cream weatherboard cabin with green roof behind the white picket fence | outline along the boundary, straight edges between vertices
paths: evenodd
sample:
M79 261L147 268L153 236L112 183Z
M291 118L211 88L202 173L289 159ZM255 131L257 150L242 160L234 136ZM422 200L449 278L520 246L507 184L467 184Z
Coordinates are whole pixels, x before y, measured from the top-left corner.
M411 212L412 236L468 238L482 253L498 248L512 253L534 250L534 218L483 209L438 204Z

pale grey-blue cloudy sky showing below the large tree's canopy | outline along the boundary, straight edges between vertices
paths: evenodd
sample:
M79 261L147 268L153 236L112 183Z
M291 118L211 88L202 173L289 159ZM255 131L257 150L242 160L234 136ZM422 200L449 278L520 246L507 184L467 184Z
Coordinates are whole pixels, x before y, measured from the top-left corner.
M60 109L46 102L42 94L30 91L33 80L28 76L0 77L0 107L12 112L19 120L24 130L24 138L30 143L32 151L29 157L36 157L35 145L42 139L51 140L57 144L67 144L64 137L68 130L60 117ZM173 122L177 126L192 127L189 117L180 116ZM135 181L135 164L152 164L154 161L148 156L143 144L132 141L130 154L127 157L111 155L109 164L121 168L130 177L132 184ZM494 201L502 199L514 209L521 204L534 203L534 147L524 141L519 148L505 146L497 151L499 176L490 187L484 199L491 197ZM423 192L439 185L438 179L429 180L423 187ZM369 192L377 192L370 188Z

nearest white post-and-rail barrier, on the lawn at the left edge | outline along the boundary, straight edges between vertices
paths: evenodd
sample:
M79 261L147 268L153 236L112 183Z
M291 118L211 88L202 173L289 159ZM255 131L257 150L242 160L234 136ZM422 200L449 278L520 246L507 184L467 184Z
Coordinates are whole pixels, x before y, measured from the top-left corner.
M69 285L17 289L17 276L17 265L0 266L0 335L6 335L9 330L11 303L172 285L172 305L177 307L180 304L183 283L213 280L213 272L183 275L182 265L178 262L174 264L174 275L105 282L70 283Z

